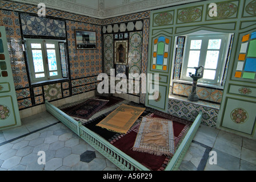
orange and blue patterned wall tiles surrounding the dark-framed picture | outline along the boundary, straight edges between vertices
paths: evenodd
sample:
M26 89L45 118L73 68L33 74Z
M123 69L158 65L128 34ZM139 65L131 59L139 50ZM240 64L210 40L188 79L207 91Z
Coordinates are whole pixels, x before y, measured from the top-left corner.
M102 73L101 26L69 20L66 24L71 80L95 76ZM75 48L75 30L95 31L97 36L97 49L77 50Z

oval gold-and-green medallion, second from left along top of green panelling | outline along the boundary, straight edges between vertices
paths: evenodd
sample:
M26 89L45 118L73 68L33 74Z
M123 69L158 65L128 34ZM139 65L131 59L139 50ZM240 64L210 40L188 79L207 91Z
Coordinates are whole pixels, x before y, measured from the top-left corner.
M200 18L201 14L202 14L202 10L198 9L197 7L191 7L191 8L182 10L178 14L178 19L184 23L194 22L195 20Z

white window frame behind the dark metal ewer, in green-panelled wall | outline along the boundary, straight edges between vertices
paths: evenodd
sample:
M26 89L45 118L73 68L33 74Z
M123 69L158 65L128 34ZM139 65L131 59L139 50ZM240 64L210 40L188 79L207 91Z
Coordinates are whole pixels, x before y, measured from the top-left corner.
M190 52L190 43L191 40L202 40L201 49L193 49L195 51L200 50L200 56L199 56L199 66L205 67L205 61L206 61L206 53L207 50L214 51L219 50L219 57L218 57L218 63L216 69L206 69L205 70L215 70L215 78L214 80L201 78L198 80L199 84L206 84L206 85L213 85L213 86L222 86L222 78L223 74L225 72L225 65L227 60L227 53L229 51L229 45L231 40L231 35L228 33L216 33L216 32L207 32L207 34L191 34L186 35L186 43L185 43L185 49L184 49L184 55L183 55L183 63L182 63L182 70L181 70L181 80L184 81L192 81L191 77L187 74L187 68L188 67L188 61L189 61L189 52ZM208 43L210 39L221 39L221 48L220 49L207 49ZM195 69L194 69L195 71ZM194 74L195 72L192 72Z

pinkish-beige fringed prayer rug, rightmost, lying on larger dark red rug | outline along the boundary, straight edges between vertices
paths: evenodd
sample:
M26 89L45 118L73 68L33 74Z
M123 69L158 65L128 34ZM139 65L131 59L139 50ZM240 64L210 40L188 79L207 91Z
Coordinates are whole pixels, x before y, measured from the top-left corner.
M173 122L143 117L133 146L134 151L173 156L175 152Z

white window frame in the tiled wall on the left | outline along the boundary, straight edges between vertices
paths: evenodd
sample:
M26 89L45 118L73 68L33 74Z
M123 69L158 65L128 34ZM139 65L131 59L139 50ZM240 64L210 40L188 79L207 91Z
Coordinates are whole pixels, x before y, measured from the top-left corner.
M24 39L26 42L26 53L27 53L27 59L29 63L29 71L30 71L30 78L32 83L40 82L40 81L51 81L51 80L57 80L62 78L62 71L61 71L61 60L60 60L60 54L59 54L59 42L63 42L63 40L53 40L53 39ZM31 48L31 43L35 44L41 44L41 48ZM46 48L46 44L54 44L54 48ZM43 72L37 72L35 73L34 69L34 63L33 63L33 56L32 56L32 50L37 49L42 51L42 58L43 58ZM54 49L55 55L56 55L56 61L57 61L57 76L50 76L51 72L49 70L48 65L48 59L47 59L47 49ZM35 77L38 73L44 73L45 77Z

